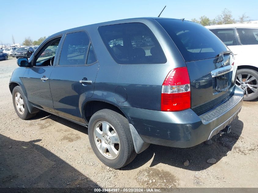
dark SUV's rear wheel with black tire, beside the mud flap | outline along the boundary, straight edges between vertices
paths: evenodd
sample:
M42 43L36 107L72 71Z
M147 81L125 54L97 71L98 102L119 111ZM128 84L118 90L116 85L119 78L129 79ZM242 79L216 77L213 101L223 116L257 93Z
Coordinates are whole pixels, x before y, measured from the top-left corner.
M107 129L108 135L105 135L102 129L102 126L105 124L110 125L109 129ZM96 134L97 130L99 130L100 133ZM129 122L124 116L115 111L102 109L94 113L89 120L88 134L90 145L98 159L100 159L102 163L111 168L122 168L132 162L137 155L133 146L133 138L129 128ZM111 134L115 137L118 137L119 144L112 143L112 139L109 138L109 135ZM107 137L103 138L102 135L105 135ZM97 136L99 136L100 138L98 138ZM108 143L107 138L111 139L110 143ZM101 146L101 144L103 144L103 147L105 147L105 145L107 145L108 147L106 148L106 150L104 150L104 152L101 152L99 148L99 145ZM111 153L109 152L111 146L113 148L116 148L115 150L117 150L116 152L118 152L117 155L114 154L114 150L112 149L112 151L110 152L113 152L114 156L111 155Z

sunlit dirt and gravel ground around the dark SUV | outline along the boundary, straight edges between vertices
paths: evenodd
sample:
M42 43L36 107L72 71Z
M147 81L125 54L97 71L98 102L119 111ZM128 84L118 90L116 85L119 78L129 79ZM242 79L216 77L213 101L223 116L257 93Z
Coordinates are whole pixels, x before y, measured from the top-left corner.
M231 133L211 145L150 145L114 170L93 153L87 128L44 112L18 118L8 87L16 67L16 59L0 61L0 187L258 187L257 101L244 102Z

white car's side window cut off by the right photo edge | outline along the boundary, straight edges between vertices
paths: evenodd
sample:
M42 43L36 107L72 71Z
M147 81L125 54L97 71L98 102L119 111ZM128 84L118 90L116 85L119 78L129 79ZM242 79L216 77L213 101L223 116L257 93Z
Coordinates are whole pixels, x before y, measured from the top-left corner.
M242 45L258 44L258 29L238 28L237 31Z

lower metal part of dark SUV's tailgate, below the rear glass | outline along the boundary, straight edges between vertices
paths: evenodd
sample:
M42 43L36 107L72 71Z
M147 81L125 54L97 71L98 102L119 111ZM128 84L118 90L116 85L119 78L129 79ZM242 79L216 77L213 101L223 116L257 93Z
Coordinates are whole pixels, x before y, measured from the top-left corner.
M231 95L236 72L233 56L224 56L224 63L217 61L218 58L212 58L186 63L191 81L191 108L198 115Z

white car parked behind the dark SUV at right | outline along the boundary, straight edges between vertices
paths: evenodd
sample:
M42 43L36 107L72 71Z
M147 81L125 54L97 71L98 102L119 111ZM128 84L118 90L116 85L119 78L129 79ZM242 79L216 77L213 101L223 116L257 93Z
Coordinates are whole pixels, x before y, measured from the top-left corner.
M220 38L238 60L236 84L244 90L244 100L258 98L258 23L205 27Z

